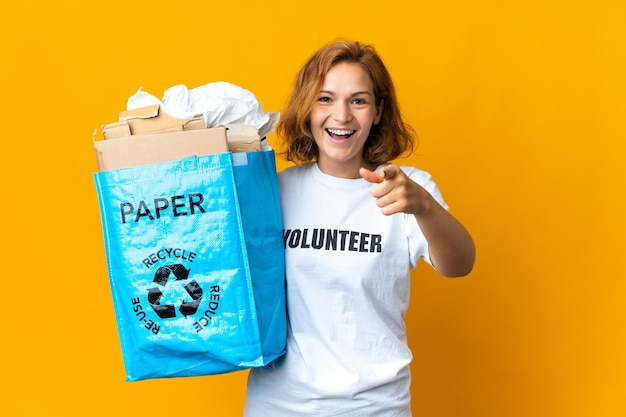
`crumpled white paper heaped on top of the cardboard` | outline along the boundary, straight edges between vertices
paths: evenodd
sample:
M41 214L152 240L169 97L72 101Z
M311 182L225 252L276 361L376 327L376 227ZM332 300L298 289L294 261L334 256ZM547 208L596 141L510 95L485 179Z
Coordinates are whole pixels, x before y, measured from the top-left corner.
M274 131L280 114L265 113L250 91L227 82L214 82L188 89L184 85L168 88L159 100L139 88L128 99L126 110L159 104L162 111L173 117L186 118L202 114L206 127L227 124L248 124L259 130L263 138Z

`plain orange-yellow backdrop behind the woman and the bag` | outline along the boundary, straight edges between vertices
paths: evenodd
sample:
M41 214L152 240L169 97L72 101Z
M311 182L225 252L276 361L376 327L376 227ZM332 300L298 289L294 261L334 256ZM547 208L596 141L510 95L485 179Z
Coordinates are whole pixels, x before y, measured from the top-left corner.
M624 4L3 0L0 415L241 415L245 372L124 382L91 135L141 86L280 111L346 36L385 59L420 135L403 162L478 247L467 278L414 274L414 414L625 416Z

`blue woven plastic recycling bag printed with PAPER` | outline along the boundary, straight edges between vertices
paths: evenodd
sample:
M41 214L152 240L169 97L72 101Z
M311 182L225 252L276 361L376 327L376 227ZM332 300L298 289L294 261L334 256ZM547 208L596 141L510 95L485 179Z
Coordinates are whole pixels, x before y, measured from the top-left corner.
M126 379L212 375L285 352L273 151L94 173Z

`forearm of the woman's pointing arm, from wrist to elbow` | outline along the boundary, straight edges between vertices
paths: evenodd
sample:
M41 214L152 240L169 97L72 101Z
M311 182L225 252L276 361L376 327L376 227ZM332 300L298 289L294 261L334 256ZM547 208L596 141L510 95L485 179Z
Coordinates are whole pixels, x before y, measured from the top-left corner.
M428 241L435 270L446 277L469 274L474 267L476 249L465 227L434 200L415 218Z

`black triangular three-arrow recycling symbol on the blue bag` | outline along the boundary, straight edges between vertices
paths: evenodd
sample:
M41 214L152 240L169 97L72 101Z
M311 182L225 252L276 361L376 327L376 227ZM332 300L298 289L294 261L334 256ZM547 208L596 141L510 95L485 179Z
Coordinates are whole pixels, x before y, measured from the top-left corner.
M181 264L162 266L155 272L153 282L165 288L171 275L176 278L175 281L183 281L189 277L189 271L190 269L186 269ZM183 316L187 317L198 311L198 306L202 299L202 288L194 280L189 281L184 288L192 301L184 301L180 305L179 311ZM159 317L162 319L176 317L176 306L174 304L161 305L161 298L163 298L163 293L159 287L148 289L148 301Z

